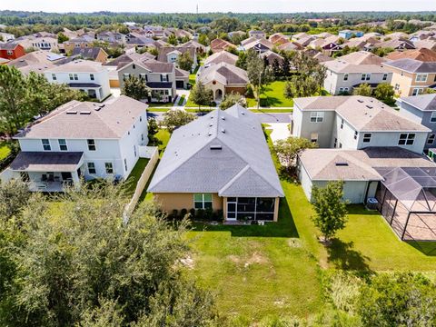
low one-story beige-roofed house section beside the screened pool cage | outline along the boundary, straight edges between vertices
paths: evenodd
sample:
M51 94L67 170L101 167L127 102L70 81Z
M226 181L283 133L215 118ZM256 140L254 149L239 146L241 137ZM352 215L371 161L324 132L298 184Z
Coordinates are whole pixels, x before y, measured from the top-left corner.
M367 203L368 199L373 201L376 197L378 203L384 203L384 192L381 193L380 190L383 182L387 181L415 187L416 196L416 191L419 192L420 188L416 187L416 182L407 178L407 174L400 173L399 170L414 170L421 172L423 176L420 168L426 171L435 170L435 167L434 163L421 154L399 147L367 147L362 150L307 149L298 156L298 176L309 201L313 200L313 186L322 188L335 181L344 183L343 199L349 203ZM412 197L413 195L409 198L409 203L414 200ZM394 203L395 198L392 206ZM389 205L385 206L389 208ZM392 207L387 214L383 211L383 215L389 216L388 223L392 222L394 211ZM401 233L399 236L401 237Z

